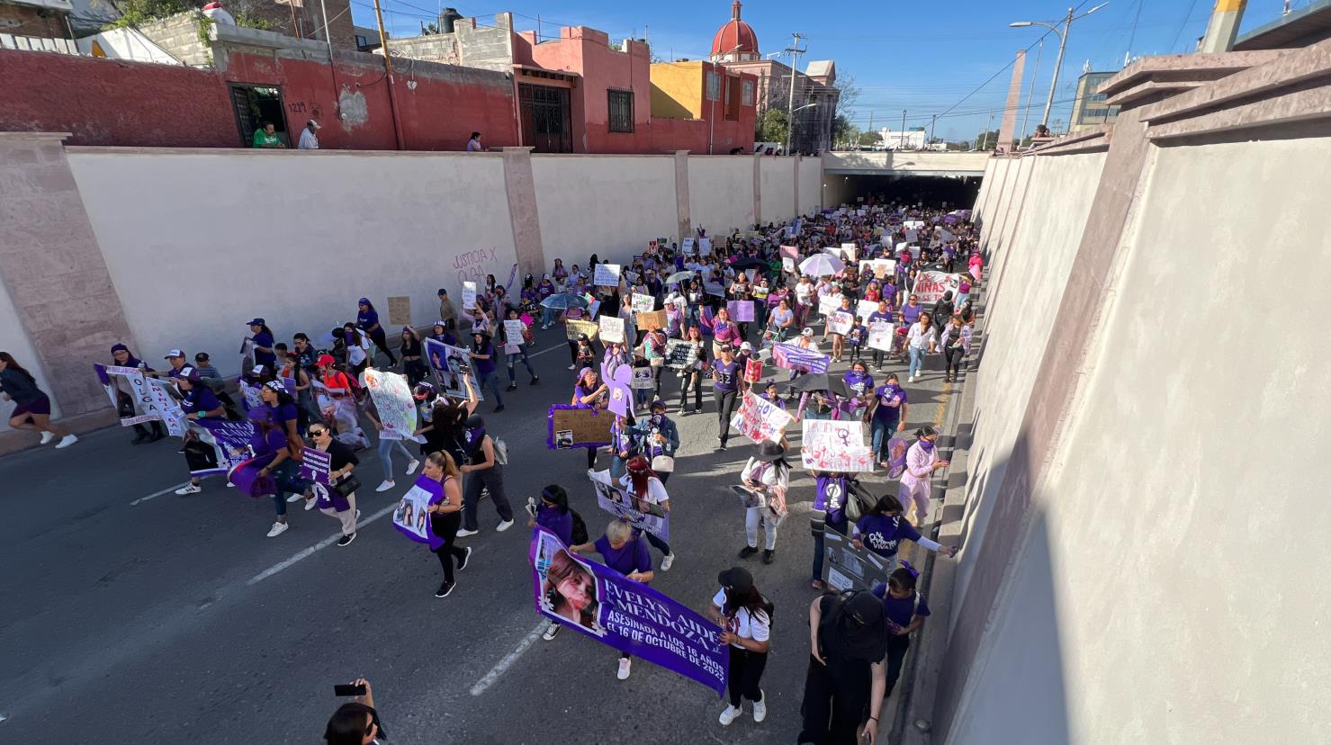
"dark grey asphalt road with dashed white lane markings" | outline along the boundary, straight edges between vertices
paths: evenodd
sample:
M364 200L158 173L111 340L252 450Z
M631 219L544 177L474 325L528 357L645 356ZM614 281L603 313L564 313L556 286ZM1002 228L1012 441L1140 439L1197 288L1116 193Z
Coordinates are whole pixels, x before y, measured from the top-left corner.
M490 414L488 403L479 411L508 442L504 478L515 507L559 483L599 535L608 515L586 488L582 451L544 446L546 408L568 400L572 372L562 330L538 338L540 384L527 386L519 366L506 411ZM904 376L901 363L889 370ZM941 379L941 359L932 358L926 378L906 386L910 430L942 420L952 386ZM666 384L676 394L677 379ZM753 446L732 434L728 451L713 451L711 399L703 415L683 418L675 400L669 415L683 444L668 490L679 559L654 587L703 611L716 573L740 563L744 520L728 487ZM805 519L813 484L803 471L792 478L776 561L744 561L776 604L763 678L768 717L756 725L745 710L723 728L723 702L696 682L642 660L619 681L608 647L572 632L540 640L544 620L526 561L531 533L522 523L496 533L488 500L483 532L463 539L476 549L473 563L441 600L433 596L437 559L387 516L411 479L375 494L373 451L358 468L367 524L339 548L331 545L337 522L298 504L291 529L265 537L272 503L240 496L218 478L205 480L202 494L176 496L170 490L188 478L178 440L130 447L130 436L102 430L73 448L0 459L3 741L321 742L339 702L333 684L359 676L373 682L393 742L795 741L815 596Z

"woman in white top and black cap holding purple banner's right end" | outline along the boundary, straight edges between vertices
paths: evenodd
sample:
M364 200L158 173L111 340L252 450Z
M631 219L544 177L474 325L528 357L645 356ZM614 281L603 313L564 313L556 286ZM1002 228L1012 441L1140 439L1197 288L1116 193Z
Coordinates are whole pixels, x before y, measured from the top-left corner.
M753 587L753 575L743 567L731 567L716 576L721 585L712 597L707 616L721 627L721 644L729 644L731 664L727 676L729 705L721 712L721 726L728 726L744 713L744 698L753 702L753 721L767 718L763 700L763 670L771 648L772 601Z

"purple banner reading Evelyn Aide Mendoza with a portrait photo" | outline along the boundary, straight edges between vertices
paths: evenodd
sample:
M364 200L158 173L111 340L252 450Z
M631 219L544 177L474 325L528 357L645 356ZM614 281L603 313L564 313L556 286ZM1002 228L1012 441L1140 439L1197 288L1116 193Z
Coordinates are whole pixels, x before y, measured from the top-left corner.
M725 692L731 653L716 624L650 585L570 553L539 525L532 528L528 560L542 616L701 682L717 696Z

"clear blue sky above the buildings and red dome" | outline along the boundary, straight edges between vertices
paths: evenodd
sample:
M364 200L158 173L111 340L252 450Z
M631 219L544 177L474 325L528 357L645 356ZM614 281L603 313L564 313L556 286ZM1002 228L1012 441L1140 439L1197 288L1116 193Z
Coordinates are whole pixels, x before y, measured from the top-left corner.
M510 11L515 13L518 31L536 29L539 17L542 39L558 37L560 25L598 28L612 40L646 36L656 56L671 60L705 57L716 29L731 16L729 0L508 0L503 5L476 4L476 0L462 4L381 1L385 25L393 36L417 36L422 23L434 20L451 4L463 16L491 23L496 12ZM1291 0L1291 4L1299 8L1308 1ZM1097 4L1097 0L1087 0L1075 7L1081 15ZM1113 72L1123 67L1125 55L1191 52L1206 31L1213 4L1210 0L1110 0L1099 11L1075 20L1054 90L1050 125L1057 124L1055 130L1066 126L1077 77L1086 65L1091 71ZM1283 0L1250 0L1240 33L1278 19L1282 7ZM1054 21L1066 12L1066 4L1051 0L960 0L946 8L928 3L751 0L743 7L743 19L757 33L764 55L788 48L791 33L799 32L805 36L801 47L808 49L800 59L800 69L809 60L835 60L839 78L851 77L860 88L851 114L860 129L870 129L870 125L873 129L900 129L905 112L908 129L933 125L936 137L972 140L989 121L993 121L992 129L998 128L1012 81L1009 65L1017 51L1028 47L1017 129L1030 132L1040 122L1058 55L1058 37L1044 28L1009 28L1008 24ZM357 25L375 25L373 0L351 0L351 15Z

